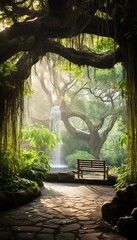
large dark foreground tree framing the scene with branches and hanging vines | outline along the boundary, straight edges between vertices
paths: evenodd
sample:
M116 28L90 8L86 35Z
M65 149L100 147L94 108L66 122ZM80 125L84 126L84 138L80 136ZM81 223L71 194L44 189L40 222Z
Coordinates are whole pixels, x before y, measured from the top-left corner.
M1 22L7 23L0 32L1 143L6 145L9 130L16 142L16 113L22 112L24 80L30 75L32 65L46 53L56 53L79 66L112 68L122 62L127 71L128 164L132 166L132 178L136 178L137 1L3 0L0 9ZM85 50L81 39L87 34L113 38L113 50L96 53L89 46ZM59 41L64 38L71 44ZM12 60L17 71L11 71L9 76L5 71Z

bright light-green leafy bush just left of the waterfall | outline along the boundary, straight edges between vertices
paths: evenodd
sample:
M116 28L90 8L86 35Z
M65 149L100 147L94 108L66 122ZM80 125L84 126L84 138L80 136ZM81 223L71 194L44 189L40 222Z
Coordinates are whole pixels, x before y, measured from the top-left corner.
M23 140L27 140L31 147L38 150L44 150L45 146L54 149L56 141L60 140L57 134L51 133L40 124L29 125L23 129L22 134Z

